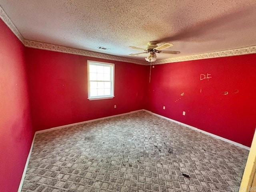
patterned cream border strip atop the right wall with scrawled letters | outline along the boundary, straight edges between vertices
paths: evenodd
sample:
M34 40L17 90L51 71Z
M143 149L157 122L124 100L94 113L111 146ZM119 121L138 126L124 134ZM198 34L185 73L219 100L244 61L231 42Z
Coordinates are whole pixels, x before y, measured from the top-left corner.
M228 56L238 56L238 55L246 55L246 54L254 54L256 53L256 46L217 51L211 53L202 53L197 55L189 55L184 57L176 57L169 58L164 60L157 60L154 64L165 64L165 63L174 63L174 62L182 62L182 61L192 61L192 60L200 60L200 59L210 59L210 58L219 58L219 57L228 57Z

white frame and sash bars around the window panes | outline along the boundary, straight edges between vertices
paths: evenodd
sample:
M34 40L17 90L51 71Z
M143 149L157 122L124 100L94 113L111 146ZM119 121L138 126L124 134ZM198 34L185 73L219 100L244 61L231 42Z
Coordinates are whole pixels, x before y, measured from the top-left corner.
M107 96L90 96L90 64L98 65L98 66L110 66L110 95ZM100 100L100 99L112 99L114 98L114 63L106 63L106 62L99 62L99 61L87 61L87 81L88 81L88 100ZM96 81L101 82L101 81Z

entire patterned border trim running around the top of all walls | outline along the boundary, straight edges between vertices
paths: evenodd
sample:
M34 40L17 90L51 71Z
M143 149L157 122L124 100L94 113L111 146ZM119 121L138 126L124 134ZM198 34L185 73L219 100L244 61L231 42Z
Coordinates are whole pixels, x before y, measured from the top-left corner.
M89 56L94 58L102 58L102 59L108 59L108 60L114 60L114 61L130 62L130 63L140 64L140 65L150 65L150 63L146 61L140 61L140 60L135 60L130 58L114 56L114 55L80 50L75 48L69 48L65 46L59 46L59 45L48 44L43 42L36 42L32 40L25 40L23 36L20 34L20 32L18 31L18 29L16 28L16 26L10 20L8 15L4 12L1 6L0 6L0 18L4 21L4 23L10 28L10 30L12 30L12 32L18 37L18 39L26 47L63 52L63 53L70 53L70 54L76 54L76 55L83 55L83 56ZM224 50L224 51L202 53L202 54L189 55L189 56L183 56L183 57L168 58L164 60L156 60L156 62L153 62L152 64L154 65L166 64L166 63L228 57L228 56L238 56L238 55L246 55L246 54L254 54L254 53L256 53L256 45L244 47L244 48L232 49L232 50Z

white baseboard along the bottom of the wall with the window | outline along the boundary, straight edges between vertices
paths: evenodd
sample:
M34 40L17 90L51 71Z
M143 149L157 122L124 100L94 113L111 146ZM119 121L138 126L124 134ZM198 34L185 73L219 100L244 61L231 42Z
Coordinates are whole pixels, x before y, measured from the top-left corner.
M41 131L36 131L36 134L44 133L44 132L49 132L49 131L54 131L54 130L58 130L58 129L62 129L62 128L70 127L70 126L75 126L75 125L80 125L80 124L84 124L84 123L100 121L100 120L109 119L109 118L113 118L113 117L128 115L128 114L136 113L136 112L143 111L143 110L144 109L136 110L136 111L131 111L131 112L128 112L128 113L122 113L122 114L118 114L118 115L112 115L112 116L108 116L108 117L102 117L102 118L98 118L98 119L92 119L92 120L78 122L78 123L73 123L73 124L68 124L68 125L63 125L63 126L58 126L58 127L53 127L53 128L49 128L49 129L45 129L45 130L41 130Z

